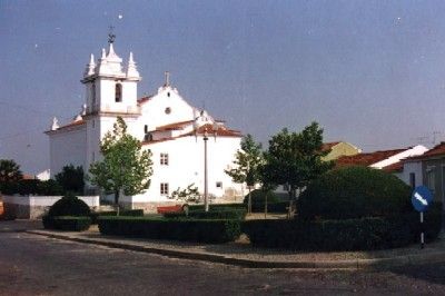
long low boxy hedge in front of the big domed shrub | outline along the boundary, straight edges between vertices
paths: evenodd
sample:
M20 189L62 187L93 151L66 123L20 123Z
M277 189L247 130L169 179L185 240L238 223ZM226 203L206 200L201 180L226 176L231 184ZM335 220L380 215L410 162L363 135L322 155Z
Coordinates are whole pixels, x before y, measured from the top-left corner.
M441 230L441 211L425 215L425 239ZM250 220L243 224L253 246L295 250L370 250L395 248L419 239L418 214L346 220Z

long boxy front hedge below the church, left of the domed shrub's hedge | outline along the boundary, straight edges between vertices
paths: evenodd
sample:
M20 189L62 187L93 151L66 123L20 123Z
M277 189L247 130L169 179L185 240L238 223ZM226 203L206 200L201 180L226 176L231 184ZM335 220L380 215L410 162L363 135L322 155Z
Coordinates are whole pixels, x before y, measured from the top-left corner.
M102 235L198 243L233 241L240 235L240 220L155 219L147 217L99 217Z

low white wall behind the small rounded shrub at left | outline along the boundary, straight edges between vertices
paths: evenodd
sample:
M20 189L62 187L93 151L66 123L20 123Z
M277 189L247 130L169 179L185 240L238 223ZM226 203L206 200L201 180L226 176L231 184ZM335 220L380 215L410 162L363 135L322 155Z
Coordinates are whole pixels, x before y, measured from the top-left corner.
M17 218L40 218L61 196L1 196L7 210L14 211ZM90 208L99 207L99 196L79 196Z

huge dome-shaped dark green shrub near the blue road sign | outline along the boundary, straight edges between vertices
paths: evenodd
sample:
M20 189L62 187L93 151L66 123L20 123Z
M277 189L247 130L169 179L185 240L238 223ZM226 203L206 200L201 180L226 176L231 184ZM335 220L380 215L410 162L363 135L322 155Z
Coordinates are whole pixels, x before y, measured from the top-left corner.
M355 219L412 211L411 188L397 177L367 167L328 171L297 201L298 218Z

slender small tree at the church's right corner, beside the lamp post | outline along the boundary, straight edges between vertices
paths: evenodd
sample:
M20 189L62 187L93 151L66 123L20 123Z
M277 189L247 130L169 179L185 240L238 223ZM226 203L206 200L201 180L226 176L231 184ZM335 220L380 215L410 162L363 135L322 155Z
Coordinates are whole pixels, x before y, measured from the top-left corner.
M261 180L260 170L264 164L261 144L256 144L251 135L247 135L241 140L241 149L235 156L235 168L225 170L235 182L246 182L249 189L247 211L251 213L251 187Z

